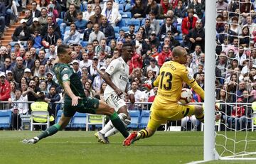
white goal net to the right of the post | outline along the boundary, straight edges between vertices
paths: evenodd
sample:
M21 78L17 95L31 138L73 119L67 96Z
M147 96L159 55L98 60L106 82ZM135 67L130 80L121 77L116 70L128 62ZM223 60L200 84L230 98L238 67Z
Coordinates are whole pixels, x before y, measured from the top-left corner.
M215 99L222 114L215 150L219 159L256 160L256 6L253 0L225 3L217 0L215 18Z

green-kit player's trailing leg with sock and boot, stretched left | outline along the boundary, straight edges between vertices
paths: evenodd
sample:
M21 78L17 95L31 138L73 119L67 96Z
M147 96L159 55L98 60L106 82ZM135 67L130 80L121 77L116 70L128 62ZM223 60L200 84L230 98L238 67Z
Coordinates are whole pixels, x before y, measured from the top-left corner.
M64 116L64 114L62 114L58 124L54 124L53 126L50 126L48 129L46 129L46 131L43 131L39 136L36 136L32 139L24 139L22 142L26 144L34 144L43 138L52 136L53 134L57 133L61 129L64 129L65 126L68 125L70 119L71 117L66 117Z

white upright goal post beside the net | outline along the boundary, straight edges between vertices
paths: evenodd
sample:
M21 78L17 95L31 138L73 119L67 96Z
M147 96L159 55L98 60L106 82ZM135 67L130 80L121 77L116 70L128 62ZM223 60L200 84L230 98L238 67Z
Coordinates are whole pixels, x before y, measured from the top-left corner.
M203 135L203 160L215 160L215 18L216 1L206 0L205 39L205 122Z

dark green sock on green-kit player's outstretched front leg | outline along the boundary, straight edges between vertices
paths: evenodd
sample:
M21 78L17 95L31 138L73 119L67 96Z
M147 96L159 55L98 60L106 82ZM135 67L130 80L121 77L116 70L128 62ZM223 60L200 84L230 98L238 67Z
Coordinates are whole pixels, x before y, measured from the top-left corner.
M129 132L126 130L122 120L119 118L116 111L114 111L114 113L110 115L110 120L111 120L113 126L118 131L120 131L120 133L122 133L122 136L124 136L124 138L127 138L129 136Z

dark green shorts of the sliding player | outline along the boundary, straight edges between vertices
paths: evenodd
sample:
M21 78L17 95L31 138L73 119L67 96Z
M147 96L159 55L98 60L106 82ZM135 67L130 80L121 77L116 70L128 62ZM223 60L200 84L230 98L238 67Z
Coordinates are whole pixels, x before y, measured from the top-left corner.
M71 99L64 99L64 116L72 117L76 111L79 113L95 114L100 103L99 99L93 97L83 97L82 99L79 99L77 106L72 106L71 102Z

